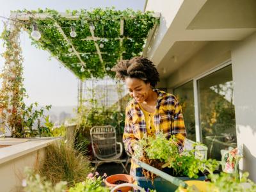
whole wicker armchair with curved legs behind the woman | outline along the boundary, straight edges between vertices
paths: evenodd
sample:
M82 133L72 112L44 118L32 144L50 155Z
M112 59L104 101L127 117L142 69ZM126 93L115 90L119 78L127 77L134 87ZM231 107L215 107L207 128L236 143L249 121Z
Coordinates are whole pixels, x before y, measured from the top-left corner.
M116 131L111 125L106 126L94 126L90 130L91 142L93 155L95 157L95 171L98 166L103 163L119 163L123 166L126 173L122 159L123 146L122 143L116 142ZM120 150L117 150L117 145L119 145Z

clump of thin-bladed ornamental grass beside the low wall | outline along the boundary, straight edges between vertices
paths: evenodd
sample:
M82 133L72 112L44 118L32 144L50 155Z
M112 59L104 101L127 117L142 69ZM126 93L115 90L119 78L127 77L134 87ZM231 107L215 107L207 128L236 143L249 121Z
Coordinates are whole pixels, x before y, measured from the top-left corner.
M66 180L68 186L86 179L90 172L90 162L81 152L74 149L74 142L57 140L47 146L45 159L38 173L53 184Z

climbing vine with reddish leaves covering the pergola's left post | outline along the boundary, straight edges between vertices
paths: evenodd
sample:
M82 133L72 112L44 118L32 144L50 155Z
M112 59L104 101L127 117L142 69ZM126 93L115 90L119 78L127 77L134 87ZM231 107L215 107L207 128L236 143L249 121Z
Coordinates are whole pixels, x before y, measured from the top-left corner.
M2 88L0 92L0 119L1 127L8 127L13 134L22 132L20 106L26 96L22 77L22 50L19 44L21 25L13 24L12 30L4 25L1 38L4 40L6 51L2 56L5 59L1 73Z

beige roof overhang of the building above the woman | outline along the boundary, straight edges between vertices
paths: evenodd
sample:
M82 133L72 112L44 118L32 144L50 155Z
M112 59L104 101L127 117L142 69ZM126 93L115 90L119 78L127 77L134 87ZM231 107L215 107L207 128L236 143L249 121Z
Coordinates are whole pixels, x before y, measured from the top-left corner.
M152 6L150 9L154 10ZM161 18L162 20L168 18ZM243 40L255 32L256 1L182 1L165 31L161 30L163 24L161 22L156 29L147 56L158 69L166 68L164 73L163 70L159 72L161 77L167 77L207 42Z

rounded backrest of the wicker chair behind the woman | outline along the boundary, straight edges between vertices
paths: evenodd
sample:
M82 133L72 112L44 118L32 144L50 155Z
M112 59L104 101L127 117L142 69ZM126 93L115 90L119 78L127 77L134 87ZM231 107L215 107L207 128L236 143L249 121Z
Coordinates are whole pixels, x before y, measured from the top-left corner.
M111 125L94 126L90 130L93 154L96 157L108 158L117 154L116 131Z

